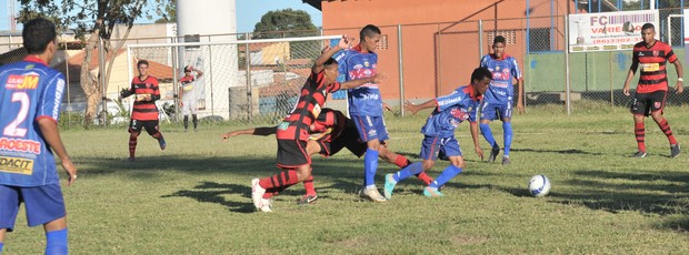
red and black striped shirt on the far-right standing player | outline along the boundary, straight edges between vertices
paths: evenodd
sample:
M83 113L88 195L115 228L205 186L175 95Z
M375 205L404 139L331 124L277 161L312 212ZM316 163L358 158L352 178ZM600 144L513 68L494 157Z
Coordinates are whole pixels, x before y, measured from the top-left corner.
M641 68L638 93L650 93L655 91L668 90L667 62L675 63L677 55L672 52L672 47L665 42L656 41L652 47L647 48L645 42L639 42L633 47L632 64L636 72L637 67Z

